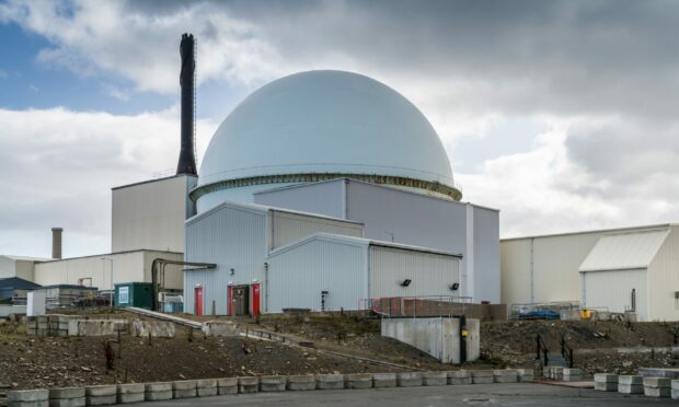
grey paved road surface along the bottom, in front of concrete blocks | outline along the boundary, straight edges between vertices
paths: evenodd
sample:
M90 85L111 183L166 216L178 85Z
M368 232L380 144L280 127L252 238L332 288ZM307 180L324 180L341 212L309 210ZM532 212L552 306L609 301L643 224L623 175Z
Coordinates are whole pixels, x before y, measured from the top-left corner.
M371 388L257 393L238 396L154 402L153 407L180 406L657 406L669 398L623 396L544 384L473 384L439 387ZM135 405L130 405L135 406ZM138 404L136 406L149 406Z

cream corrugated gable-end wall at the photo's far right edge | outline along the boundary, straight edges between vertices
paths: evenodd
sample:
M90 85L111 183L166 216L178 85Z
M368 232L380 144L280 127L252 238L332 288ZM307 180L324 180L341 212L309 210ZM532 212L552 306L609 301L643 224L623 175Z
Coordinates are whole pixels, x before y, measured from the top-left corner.
M648 319L679 321L679 228L669 235L648 267Z

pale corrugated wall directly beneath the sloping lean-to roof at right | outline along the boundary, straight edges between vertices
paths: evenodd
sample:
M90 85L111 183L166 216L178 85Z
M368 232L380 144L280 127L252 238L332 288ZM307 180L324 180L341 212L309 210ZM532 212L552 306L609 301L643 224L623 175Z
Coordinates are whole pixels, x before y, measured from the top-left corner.
M580 278L584 306L624 312L632 305L632 289L635 289L637 318L648 321L646 269L587 271L580 272Z

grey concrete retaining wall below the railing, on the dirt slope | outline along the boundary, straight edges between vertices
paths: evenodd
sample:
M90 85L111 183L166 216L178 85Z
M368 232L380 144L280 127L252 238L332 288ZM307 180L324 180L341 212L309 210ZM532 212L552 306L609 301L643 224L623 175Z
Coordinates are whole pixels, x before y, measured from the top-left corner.
M479 319L467 319L467 360L474 361L481 349ZM382 319L382 336L411 345L442 363L460 363L459 318Z

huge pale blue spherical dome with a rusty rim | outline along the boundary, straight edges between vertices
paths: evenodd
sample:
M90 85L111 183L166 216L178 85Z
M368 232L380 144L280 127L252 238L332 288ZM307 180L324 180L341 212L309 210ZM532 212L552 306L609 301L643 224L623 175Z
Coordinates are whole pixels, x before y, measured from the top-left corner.
M200 209L216 191L228 199L235 189L337 177L461 197L438 135L412 103L357 73L310 71L235 107L210 141L192 198Z

